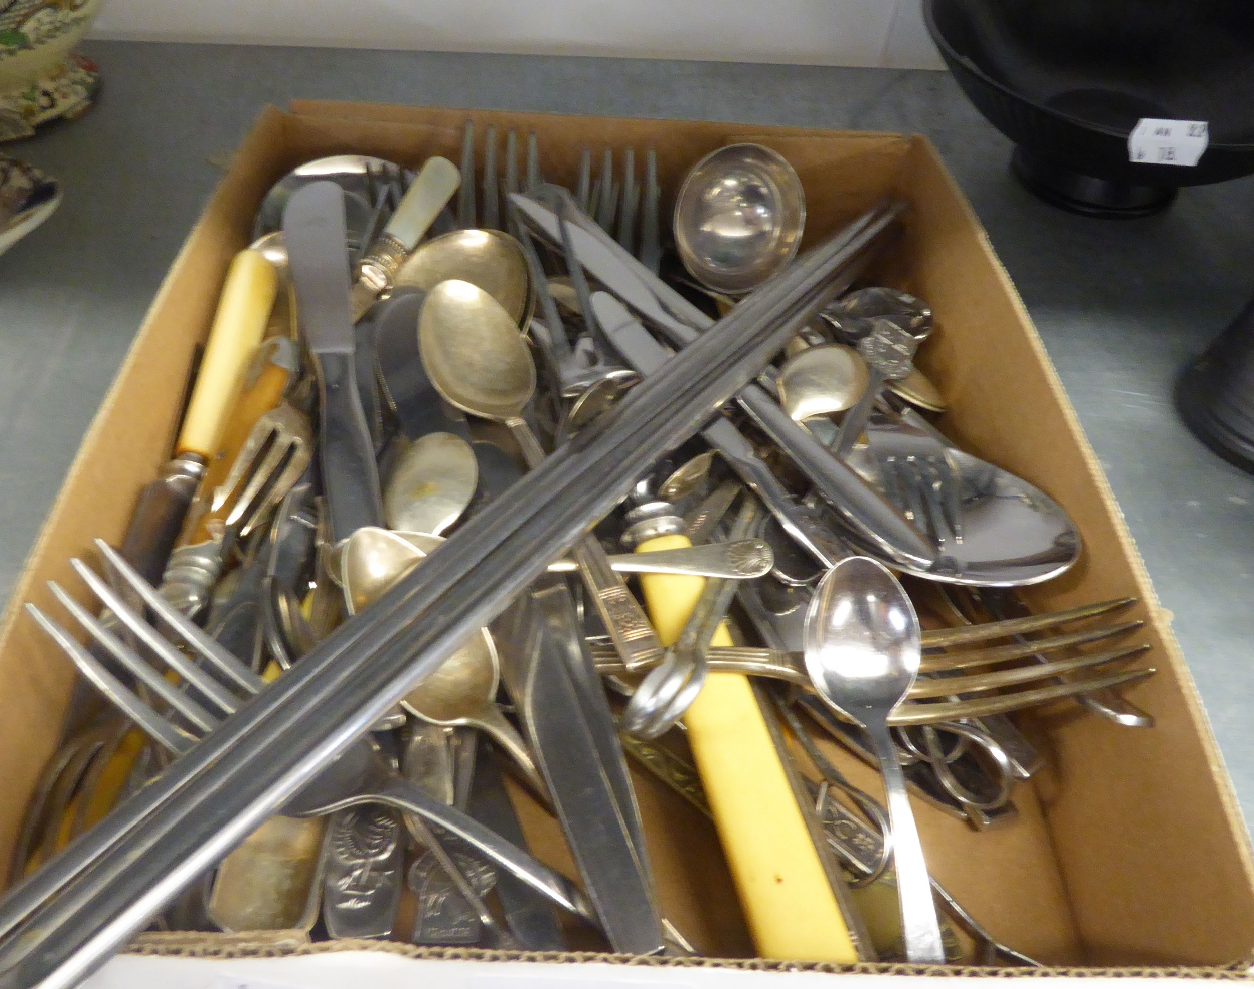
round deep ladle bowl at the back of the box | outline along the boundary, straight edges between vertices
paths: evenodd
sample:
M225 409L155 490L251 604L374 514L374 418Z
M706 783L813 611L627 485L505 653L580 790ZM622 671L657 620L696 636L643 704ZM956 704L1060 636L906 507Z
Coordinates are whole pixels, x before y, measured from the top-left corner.
M729 144L697 162L675 202L675 242L701 285L751 292L795 256L805 193L793 165L761 144Z

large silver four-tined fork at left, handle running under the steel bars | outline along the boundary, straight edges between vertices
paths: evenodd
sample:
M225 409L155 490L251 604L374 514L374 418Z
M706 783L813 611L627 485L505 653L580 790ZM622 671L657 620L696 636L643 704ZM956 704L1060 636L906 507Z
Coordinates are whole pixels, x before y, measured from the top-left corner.
M196 659L189 659L172 646L157 628L132 610L109 584L85 563L71 559L70 564L74 570L158 661L184 679L187 689L181 689L166 681L152 663L104 628L87 608L74 600L55 582L49 582L49 588L92 639L127 672L168 703L171 709L177 713L179 722L163 717L144 703L104 663L93 657L82 643L34 604L28 604L26 610L74 662L83 676L114 706L158 745L176 756L183 755L209 735L228 714L261 691L266 686L265 681L164 602L157 590L135 573L112 547L99 539L95 540L95 545L107 565L157 615L169 634L182 639ZM196 692L194 697L192 696L193 691ZM474 819L433 798L401 777L367 741L354 745L307 782L283 806L282 812L307 817L362 803L384 803L421 815L473 845L487 859L518 876L558 906L577 914L594 928L599 928L591 903L574 884Z

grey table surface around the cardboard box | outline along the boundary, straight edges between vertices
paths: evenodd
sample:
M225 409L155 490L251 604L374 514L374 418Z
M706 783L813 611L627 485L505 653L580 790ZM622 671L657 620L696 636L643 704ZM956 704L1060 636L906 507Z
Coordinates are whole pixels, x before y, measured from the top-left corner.
M1179 369L1254 292L1254 179L1157 217L1090 221L1011 178L1007 142L943 73L95 41L83 119L5 150L64 181L0 257L0 593L221 162L260 108L356 99L927 134L974 204L1097 451L1254 820L1254 478L1171 405ZM212 159L212 160L211 160Z

